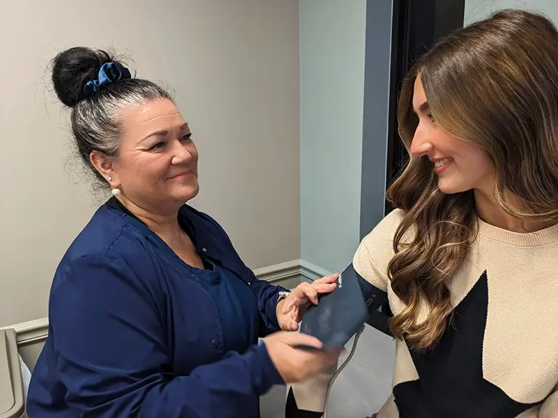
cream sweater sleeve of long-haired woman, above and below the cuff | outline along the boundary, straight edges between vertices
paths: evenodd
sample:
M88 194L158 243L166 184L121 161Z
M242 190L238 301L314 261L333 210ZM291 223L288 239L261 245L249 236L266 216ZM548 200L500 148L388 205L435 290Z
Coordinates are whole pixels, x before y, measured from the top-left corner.
M393 234L401 216L402 213L396 210L382 219L382 222L363 238L354 254L354 270L360 275L359 283L369 312L377 310L387 300L387 265L393 256ZM285 417L322 417L327 387L335 371L336 366L305 382L288 385Z

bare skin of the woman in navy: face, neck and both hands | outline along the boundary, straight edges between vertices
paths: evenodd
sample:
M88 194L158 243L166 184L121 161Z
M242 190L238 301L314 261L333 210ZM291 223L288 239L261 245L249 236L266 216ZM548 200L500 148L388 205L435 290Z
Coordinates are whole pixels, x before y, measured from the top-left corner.
M119 201L146 224L185 263L204 268L188 234L181 229L179 208L197 196L198 153L188 123L170 100L153 100L121 114L123 136L119 156L110 160L102 153L90 155L93 167L119 188ZM303 283L282 299L276 308L284 331L298 330L304 312L317 304L320 293L335 288L338 274ZM294 346L321 348L322 343L301 333L272 334L264 339L269 355L285 382L303 380L333 364L340 350L307 352Z

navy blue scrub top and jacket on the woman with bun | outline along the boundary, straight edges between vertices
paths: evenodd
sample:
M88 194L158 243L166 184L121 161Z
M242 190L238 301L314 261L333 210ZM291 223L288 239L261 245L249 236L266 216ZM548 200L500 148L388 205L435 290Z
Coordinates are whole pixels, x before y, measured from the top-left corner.
M264 337L281 291L243 263L223 228L188 205L181 228L204 262L184 263L111 199L64 254L30 418L259 418L284 383Z

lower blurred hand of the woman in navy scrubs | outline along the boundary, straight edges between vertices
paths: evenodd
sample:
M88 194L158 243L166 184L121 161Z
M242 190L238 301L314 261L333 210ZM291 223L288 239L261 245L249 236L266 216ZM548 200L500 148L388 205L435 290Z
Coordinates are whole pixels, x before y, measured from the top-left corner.
M336 364L340 350L322 350L322 343L314 336L300 332L279 331L264 338L271 362L285 383L302 382ZM296 348L310 346L317 350Z

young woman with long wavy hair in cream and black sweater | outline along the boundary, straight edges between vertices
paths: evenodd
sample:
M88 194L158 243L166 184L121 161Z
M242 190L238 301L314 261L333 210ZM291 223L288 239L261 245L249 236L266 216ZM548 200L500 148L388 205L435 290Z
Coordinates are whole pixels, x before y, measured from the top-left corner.
M398 106L396 209L353 262L393 312L377 418L558 417L557 29L504 10L455 31ZM292 385L287 417L322 416L328 381Z

